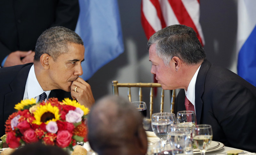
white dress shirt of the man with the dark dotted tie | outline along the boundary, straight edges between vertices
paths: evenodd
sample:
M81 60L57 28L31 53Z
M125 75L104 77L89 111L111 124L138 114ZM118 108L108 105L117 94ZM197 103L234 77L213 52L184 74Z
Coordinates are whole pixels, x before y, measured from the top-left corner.
M36 79L35 67L34 65L32 65L28 73L28 79L26 82L23 100L36 98L36 102L38 102L39 95L41 95L43 92L46 93L47 95L46 100L47 100L49 98L49 94L51 90L48 90L48 91L43 90L43 88L40 86L39 82Z

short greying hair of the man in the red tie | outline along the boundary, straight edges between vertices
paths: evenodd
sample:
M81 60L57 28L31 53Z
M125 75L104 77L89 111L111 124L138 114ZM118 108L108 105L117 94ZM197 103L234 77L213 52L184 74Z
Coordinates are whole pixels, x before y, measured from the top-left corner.
M206 58L203 46L196 32L185 25L171 25L157 31L148 40L148 49L156 44L156 54L166 66L172 57L177 56L187 65L195 65Z

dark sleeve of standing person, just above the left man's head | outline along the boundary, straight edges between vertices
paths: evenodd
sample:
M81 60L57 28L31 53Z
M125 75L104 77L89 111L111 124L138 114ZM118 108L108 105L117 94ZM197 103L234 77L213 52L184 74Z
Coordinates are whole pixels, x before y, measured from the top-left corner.
M78 0L59 0L56 8L56 20L51 27L64 26L75 31L78 16Z

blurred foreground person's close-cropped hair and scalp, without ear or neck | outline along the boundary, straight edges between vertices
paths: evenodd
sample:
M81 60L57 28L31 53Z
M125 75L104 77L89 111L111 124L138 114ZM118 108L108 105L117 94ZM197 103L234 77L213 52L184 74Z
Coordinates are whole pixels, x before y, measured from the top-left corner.
M88 140L94 151L131 143L142 126L142 115L120 96L106 96L94 104L88 116Z

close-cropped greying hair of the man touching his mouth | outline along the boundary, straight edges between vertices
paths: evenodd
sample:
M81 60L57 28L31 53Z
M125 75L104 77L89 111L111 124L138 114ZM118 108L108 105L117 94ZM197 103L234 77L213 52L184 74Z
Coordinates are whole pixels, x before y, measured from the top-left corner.
M47 53L55 61L61 53L68 52L68 43L84 45L76 32L62 26L51 27L37 39L34 60L39 61L41 55Z

